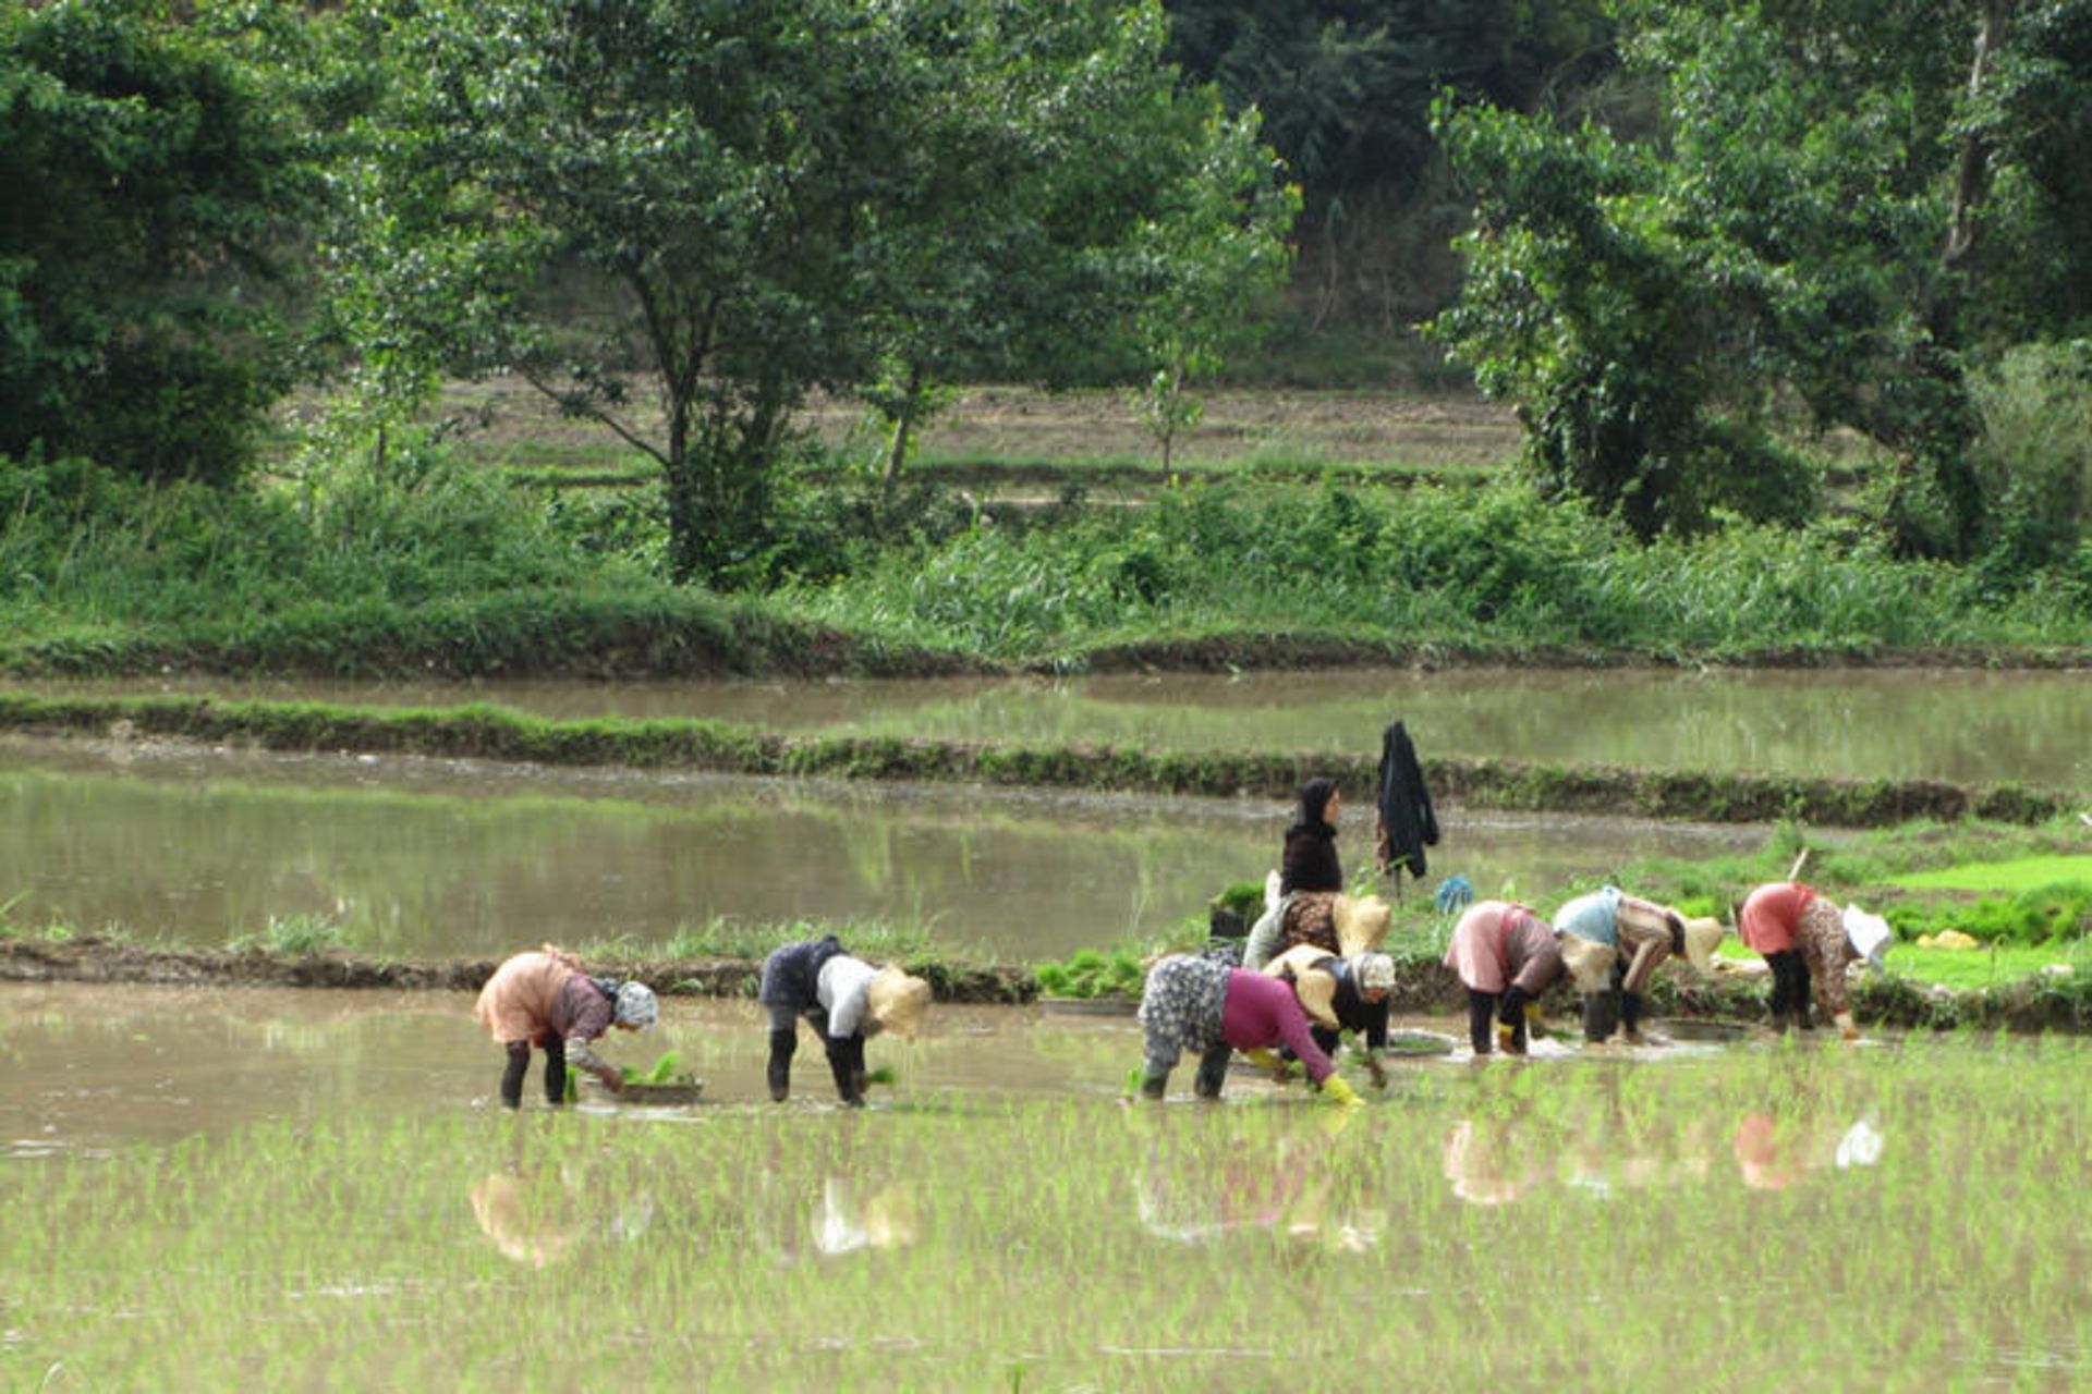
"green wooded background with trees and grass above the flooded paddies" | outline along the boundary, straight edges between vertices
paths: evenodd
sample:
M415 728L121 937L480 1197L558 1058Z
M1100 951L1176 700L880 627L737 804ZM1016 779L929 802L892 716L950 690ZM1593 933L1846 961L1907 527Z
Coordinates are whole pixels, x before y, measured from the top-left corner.
M2092 0L8 6L0 665L2082 663L2088 96ZM1140 487L983 502L979 385Z

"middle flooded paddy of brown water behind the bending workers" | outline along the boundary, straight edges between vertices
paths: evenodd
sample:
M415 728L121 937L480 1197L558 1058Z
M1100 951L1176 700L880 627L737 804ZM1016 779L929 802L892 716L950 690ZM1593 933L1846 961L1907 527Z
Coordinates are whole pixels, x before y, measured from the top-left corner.
M1362 869L1370 828L1345 815ZM0 738L0 903L15 924L121 924L222 945L314 917L354 949L504 953L661 943L713 917L929 924L1006 959L1176 928L1276 865L1289 809L962 786L764 782L172 744ZM1433 882L1540 892L1751 828L1443 817ZM1416 895L1410 882L1410 895ZM1429 888L1429 886L1427 886Z

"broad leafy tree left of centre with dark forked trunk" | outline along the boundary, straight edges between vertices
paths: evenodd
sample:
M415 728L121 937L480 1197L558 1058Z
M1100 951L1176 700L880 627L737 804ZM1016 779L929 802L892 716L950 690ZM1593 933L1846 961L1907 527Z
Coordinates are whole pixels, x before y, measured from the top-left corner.
M657 460L676 575L732 581L810 391L870 395L900 458L937 382L1065 357L1125 301L1109 253L1205 148L1157 36L1100 0L400 0L370 224L387 259L448 247L418 265L477 307L423 343ZM554 272L607 305L586 343Z

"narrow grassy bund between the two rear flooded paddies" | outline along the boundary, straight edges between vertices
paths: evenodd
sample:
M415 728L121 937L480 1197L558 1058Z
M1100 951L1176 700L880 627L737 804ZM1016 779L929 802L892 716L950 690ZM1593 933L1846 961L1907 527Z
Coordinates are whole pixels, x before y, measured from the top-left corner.
M264 750L358 750L540 765L709 769L743 775L929 780L1188 796L1291 796L1308 775L1372 788L1377 763L1314 752L1157 752L939 740L778 736L703 719L531 717L504 706L372 708L213 698L40 698L0 694L0 727L174 736ZM2075 807L2059 790L1966 788L1929 780L1810 780L1437 759L1439 798L1477 809L1625 813L1726 823L1805 821L1879 828L1981 817L2038 823Z

